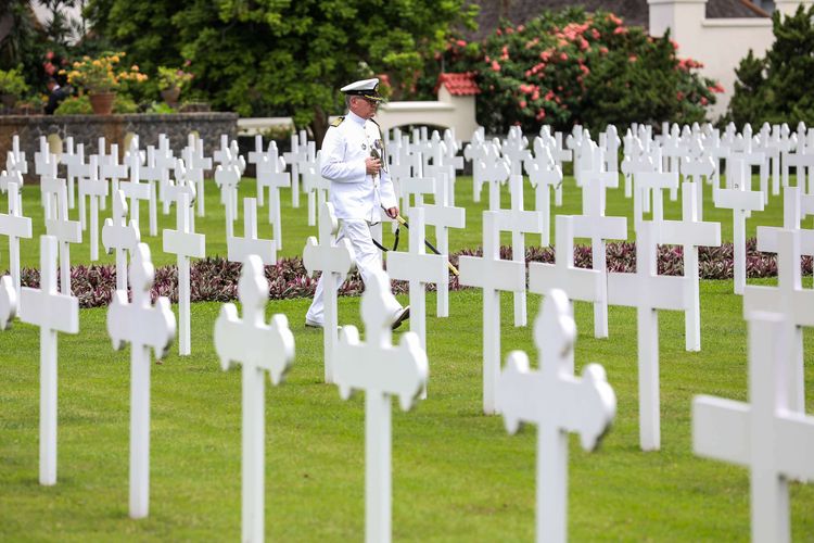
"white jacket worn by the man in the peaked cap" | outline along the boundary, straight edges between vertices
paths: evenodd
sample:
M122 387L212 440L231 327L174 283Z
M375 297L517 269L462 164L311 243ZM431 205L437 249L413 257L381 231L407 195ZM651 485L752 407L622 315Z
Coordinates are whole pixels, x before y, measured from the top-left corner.
M376 177L365 172L365 159L376 147L382 169ZM331 181L331 203L336 218L380 222L380 210L395 207L396 197L390 174L379 125L348 112L339 126L328 128L322 140L321 173Z

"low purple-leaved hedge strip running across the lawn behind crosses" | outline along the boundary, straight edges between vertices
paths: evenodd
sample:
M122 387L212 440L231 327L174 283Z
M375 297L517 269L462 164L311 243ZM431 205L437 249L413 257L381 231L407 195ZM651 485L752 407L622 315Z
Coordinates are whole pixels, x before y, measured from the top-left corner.
M460 255L481 256L482 250L465 250L449 256L449 262L458 266ZM501 247L500 257L511 260L511 248ZM526 249L525 262L555 262L555 251L551 248L531 247ZM802 258L802 273L812 273L811 256ZM679 245L659 247L659 274L681 276L684 274L684 254ZM724 243L722 247L698 250L699 275L701 279L732 279L733 278L733 245ZM589 245L574 248L574 265L581 268L592 267ZM627 242L608 243L607 266L609 272L633 273L636 270L636 244ZM190 269L190 300L192 302L229 302L238 298L238 281L241 265L228 262L221 257L208 257L195 261ZM777 275L777 261L774 254L758 251L754 239L747 241L747 277L774 277ZM272 300L290 298L309 298L314 295L317 281L305 270L300 257L282 258L274 266L266 266L268 280L268 295ZM39 272L24 268L21 272L21 282L24 287L39 287ZM109 305L116 290L116 267L75 266L71 269L71 288L79 299L81 307L102 307ZM460 290L458 278L449 277L449 289ZM434 286L428 285L429 290ZM342 295L360 295L365 290L358 272L348 275L347 280L340 288ZM405 281L393 281L395 293L408 291ZM152 298L168 296L171 302L178 301L178 268L163 266L155 269Z

